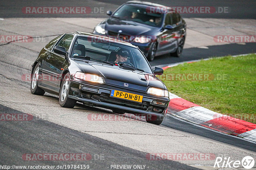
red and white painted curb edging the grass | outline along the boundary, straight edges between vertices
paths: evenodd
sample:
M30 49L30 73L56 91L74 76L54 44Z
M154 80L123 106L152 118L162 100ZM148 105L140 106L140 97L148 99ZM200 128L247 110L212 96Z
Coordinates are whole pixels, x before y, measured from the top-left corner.
M173 66L174 65L166 66L163 67L163 69ZM168 106L167 114L174 115L212 130L256 142L256 124L214 112L180 98L170 92L169 94L170 104Z

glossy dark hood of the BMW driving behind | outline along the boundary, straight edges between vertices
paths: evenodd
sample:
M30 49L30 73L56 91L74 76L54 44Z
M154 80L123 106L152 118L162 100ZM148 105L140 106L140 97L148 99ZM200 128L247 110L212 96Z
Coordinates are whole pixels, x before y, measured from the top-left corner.
M112 32L118 32L119 30L122 30L122 34L133 36L145 35L147 34L147 32L157 29L133 21L119 20L117 18L108 18L107 20L105 20L104 24L105 30Z

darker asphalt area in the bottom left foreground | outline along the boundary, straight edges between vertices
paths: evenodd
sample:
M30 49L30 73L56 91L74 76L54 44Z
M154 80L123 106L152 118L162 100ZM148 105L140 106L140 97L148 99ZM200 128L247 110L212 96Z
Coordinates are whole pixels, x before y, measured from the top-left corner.
M17 110L0 105L0 113L24 114ZM17 129L19 129L17 131ZM44 132L42 133L42 129ZM117 165L146 165L146 169L197 169L172 160L145 160L147 153L130 149L115 143L81 133L40 118L31 122L5 121L0 124L1 165L26 165L28 161L21 159L24 153L89 153L92 157L86 161L54 161L44 160L40 164L89 165L90 169L110 169ZM27 140L29 139L29 140ZM4 149L5 148L5 149ZM30 161L29 166L38 162Z

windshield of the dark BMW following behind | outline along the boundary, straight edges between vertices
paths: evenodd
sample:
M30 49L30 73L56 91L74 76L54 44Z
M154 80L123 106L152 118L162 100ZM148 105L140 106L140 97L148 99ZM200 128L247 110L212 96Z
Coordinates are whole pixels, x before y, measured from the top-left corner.
M113 14L113 17L160 27L164 14L150 12L148 9L149 6L147 5L125 4Z

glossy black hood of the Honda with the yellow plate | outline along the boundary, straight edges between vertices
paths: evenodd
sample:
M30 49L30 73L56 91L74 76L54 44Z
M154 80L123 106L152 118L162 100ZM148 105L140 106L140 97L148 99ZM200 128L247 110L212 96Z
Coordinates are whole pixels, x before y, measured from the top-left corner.
M156 78L155 75L142 73L126 67L112 66L108 64L76 61L85 73L101 75L111 83L111 80L132 83L139 86L151 86L160 89L165 89L162 81ZM109 81L108 81L109 80Z

